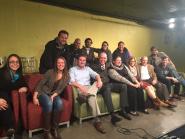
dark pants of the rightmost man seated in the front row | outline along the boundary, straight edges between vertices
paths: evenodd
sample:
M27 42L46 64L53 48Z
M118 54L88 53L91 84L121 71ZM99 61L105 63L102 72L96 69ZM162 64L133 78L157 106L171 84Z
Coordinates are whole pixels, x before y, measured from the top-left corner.
M160 79L160 81L167 86L168 91L169 91L170 94L172 93L171 86L175 85L174 94L179 94L179 92L180 92L180 83L174 83L173 81L168 80L168 79Z

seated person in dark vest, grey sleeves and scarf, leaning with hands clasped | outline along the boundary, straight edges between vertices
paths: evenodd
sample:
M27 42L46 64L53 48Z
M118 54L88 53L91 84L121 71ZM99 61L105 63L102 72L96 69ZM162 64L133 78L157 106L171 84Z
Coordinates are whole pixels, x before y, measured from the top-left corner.
M113 64L111 65L108 73L111 78L111 82L121 82L127 85L129 112L132 115L138 116L137 88L140 87L140 83L136 80L128 67L122 64L120 56L113 57Z

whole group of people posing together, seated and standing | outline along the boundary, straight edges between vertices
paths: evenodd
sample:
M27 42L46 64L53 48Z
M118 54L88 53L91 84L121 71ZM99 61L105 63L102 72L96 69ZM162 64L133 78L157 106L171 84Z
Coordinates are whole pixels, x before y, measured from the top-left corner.
M101 114L97 94L101 94L111 115L111 123L116 125L121 117L131 120L131 116L139 116L138 111L149 114L144 92L152 106L173 109L173 97L180 99L180 84L185 86L185 78L180 75L169 57L151 48L149 57L143 56L140 62L131 55L120 41L117 49L111 53L108 42L101 48L92 47L92 39L85 39L81 48L81 40L67 45L68 32L61 30L58 36L48 42L40 58L39 72L44 74L33 94L33 103L43 110L44 139L61 139L58 132L60 112L63 102L60 99L64 88L70 84L78 90L79 103L88 103L94 116L93 126L100 133L106 133L99 118ZM95 56L98 54L98 57ZM0 69L0 126L11 137L21 138L20 127L14 127L11 91L18 89L26 93L27 84L22 74L21 61L18 55L12 54L7 64ZM175 85L172 91L172 85ZM121 110L118 116L114 112L111 92L120 94ZM5 119L9 120L5 120ZM20 117L21 125L21 117Z

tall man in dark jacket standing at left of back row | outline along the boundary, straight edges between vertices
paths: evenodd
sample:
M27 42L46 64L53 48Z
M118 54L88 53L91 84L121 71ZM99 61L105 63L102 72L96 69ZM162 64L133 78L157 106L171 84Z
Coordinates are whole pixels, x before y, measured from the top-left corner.
M58 37L52 41L49 41L45 45L45 50L40 58L39 72L44 74L48 69L54 68L54 63L57 57L63 56L69 66L69 47L67 45L69 33L65 30L61 30L58 33Z

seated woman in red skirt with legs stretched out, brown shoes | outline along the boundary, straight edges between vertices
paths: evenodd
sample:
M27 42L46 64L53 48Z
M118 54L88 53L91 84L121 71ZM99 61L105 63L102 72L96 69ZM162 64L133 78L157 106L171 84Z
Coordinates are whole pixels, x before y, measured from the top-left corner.
M165 105L157 96L154 90L154 87L149 84L148 82L142 81L138 76L138 66L136 64L136 59L134 57L129 58L128 67L132 74L136 77L136 79L140 82L140 88L144 89L147 93L147 95L151 98L151 100L154 103L154 106L156 109L159 109L159 107L162 105ZM166 105L165 105L166 106Z

